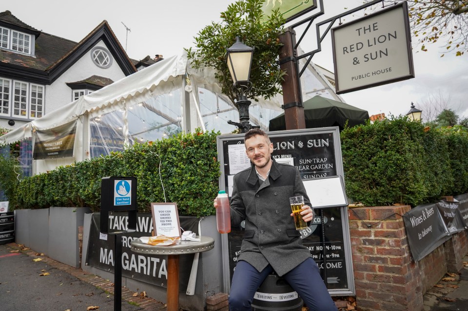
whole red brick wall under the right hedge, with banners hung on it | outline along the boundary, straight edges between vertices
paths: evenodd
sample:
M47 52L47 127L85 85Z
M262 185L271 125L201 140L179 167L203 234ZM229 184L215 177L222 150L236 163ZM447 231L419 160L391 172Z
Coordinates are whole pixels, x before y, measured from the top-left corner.
M400 216L409 209L405 205L348 211L357 310L422 311L424 293L447 271L461 269L468 253L467 231L452 235L419 262L413 260Z

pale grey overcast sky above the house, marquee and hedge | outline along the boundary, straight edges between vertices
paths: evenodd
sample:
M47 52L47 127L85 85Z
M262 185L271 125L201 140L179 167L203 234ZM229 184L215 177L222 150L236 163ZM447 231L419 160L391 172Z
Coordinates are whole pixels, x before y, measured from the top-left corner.
M279 0L278 0L279 1ZM219 13L233 0L15 0L1 1L0 12L10 10L26 24L43 32L80 41L100 22L107 20L127 54L134 59L156 54L168 57L193 46L194 37L211 21L219 21ZM361 5L360 0L324 0L325 15L318 21ZM332 3L332 5L331 5ZM362 14L361 14L362 16ZM348 22L353 17L344 18ZM127 32L125 24L130 31ZM334 25L336 26L336 25ZM301 48L315 49L314 29ZM128 35L128 37L127 37ZM415 44L413 43L413 47ZM369 114L406 114L411 102L417 108L429 96L450 98L450 108L468 117L468 54L445 55L429 45L429 52L413 48L415 78L343 94L345 101L369 111ZM322 52L312 61L330 71L333 69L331 34L322 42Z

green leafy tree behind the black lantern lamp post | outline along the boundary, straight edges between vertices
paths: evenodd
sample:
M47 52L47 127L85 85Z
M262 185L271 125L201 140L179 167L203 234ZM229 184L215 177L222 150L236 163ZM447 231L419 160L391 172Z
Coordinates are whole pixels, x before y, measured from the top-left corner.
M215 77L222 87L222 93L232 102L237 99L233 90L233 80L226 63L226 49L239 36L244 44L254 47L254 57L250 81L252 89L248 97L271 98L281 92L284 72L278 64L279 49L282 44L279 35L283 33L284 18L274 11L265 17L261 4L264 0L239 0L230 4L221 13L221 22L206 26L195 37L195 48L186 49L192 66L213 67Z

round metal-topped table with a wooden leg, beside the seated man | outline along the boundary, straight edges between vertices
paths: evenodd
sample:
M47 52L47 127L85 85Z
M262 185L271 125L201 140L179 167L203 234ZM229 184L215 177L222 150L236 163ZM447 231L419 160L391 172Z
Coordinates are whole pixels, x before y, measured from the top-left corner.
M180 241L180 244L158 246L143 243L139 238L133 240L131 249L145 255L167 255L167 311L179 310L179 255L206 252L215 247L210 237L197 237L199 242Z

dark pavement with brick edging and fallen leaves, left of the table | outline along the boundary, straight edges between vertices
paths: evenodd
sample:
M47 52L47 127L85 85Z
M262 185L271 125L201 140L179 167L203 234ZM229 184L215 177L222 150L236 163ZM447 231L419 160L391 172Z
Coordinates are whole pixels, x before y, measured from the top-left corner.
M113 311L113 293L114 284L94 274L16 243L0 245L1 311ZM122 311L166 310L163 303L126 288L122 299Z

